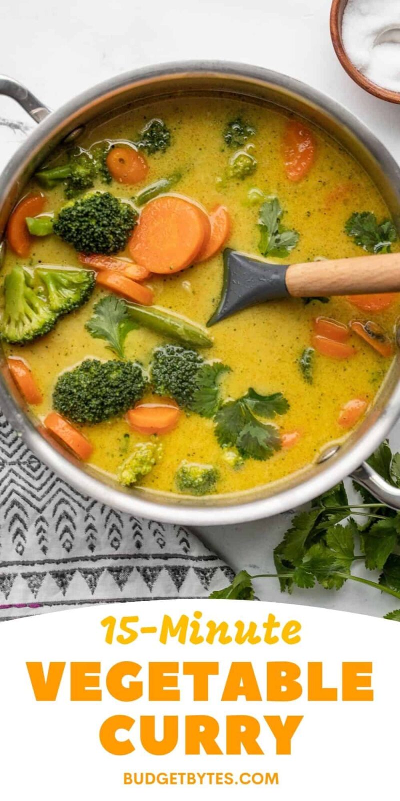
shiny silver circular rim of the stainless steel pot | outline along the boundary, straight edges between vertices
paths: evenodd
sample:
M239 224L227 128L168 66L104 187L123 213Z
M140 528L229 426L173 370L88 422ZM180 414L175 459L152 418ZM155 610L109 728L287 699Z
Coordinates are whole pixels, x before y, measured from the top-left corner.
M26 139L25 143L18 148L18 151L10 159L5 170L0 175L0 206L5 202L10 187L13 186L22 174L22 167L26 159L32 154L34 148L41 150L46 137L54 135L56 131L62 131L67 119L72 115L82 111L82 107L93 104L95 101L106 99L109 96L118 96L119 93L126 91L130 85L138 83L156 83L162 78L173 77L181 78L188 76L208 75L211 78L236 77L248 79L255 86L271 86L282 88L286 93L298 97L300 101L308 101L314 107L322 109L330 117L333 117L342 127L346 127L351 135L355 135L359 142L366 147L367 151L377 159L380 167L388 177L392 187L398 182L400 186L400 167L394 158L387 151L386 147L374 136L374 134L359 120L342 107L339 103L331 99L328 95L315 90L312 87L273 70L263 67L241 64L239 62L224 61L182 61L167 62L154 66L142 67L138 70L130 70L123 74L109 78L94 87L83 91L74 99L67 101L57 111L52 112L44 119L38 128L33 131ZM300 479L297 485L277 490L270 496L257 500L248 500L246 497L243 502L236 502L233 505L183 505L178 502L162 502L158 500L147 500L134 493L126 493L120 489L114 489L110 485L103 483L98 478L91 476L82 470L66 456L62 455L53 445L50 445L33 425L30 418L13 400L6 387L3 376L0 379L0 405L10 424L22 436L26 445L32 449L35 455L42 459L55 473L58 473L67 483L73 485L80 493L88 494L101 503L110 505L116 509L130 514L138 514L142 517L163 521L167 523L177 523L180 525L229 525L238 524L246 521L258 520L262 517L282 513L292 509L294 506L302 505L306 501L312 500L321 493L330 489L331 486L342 481L343 478L353 473L362 464L370 453L385 439L390 429L400 415L400 381L396 384L394 391L377 420L370 425L370 429L364 433L358 441L348 449L343 449L334 457L331 464L324 464L320 472L316 475ZM158 496L160 497L160 496Z

